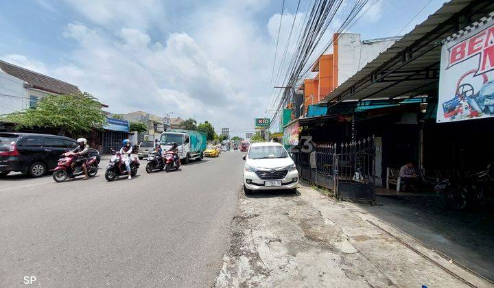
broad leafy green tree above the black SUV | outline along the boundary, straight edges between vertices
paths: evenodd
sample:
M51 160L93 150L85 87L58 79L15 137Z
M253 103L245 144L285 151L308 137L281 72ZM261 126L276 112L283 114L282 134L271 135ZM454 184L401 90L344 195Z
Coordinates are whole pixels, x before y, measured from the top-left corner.
M89 93L48 95L36 108L14 112L5 119L16 123L16 128L55 127L68 136L102 129L106 124L101 104Z

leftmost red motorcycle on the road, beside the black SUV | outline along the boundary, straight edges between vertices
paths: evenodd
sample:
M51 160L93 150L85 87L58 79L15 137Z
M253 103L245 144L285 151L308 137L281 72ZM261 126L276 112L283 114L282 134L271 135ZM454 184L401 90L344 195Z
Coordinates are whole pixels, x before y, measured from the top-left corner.
M84 175L82 165L77 165L75 169L72 169L72 163L78 160L78 154L72 152L66 152L62 154L63 158L58 159L57 167L53 173L53 178L56 182L64 182L67 178L75 178L76 176ZM96 156L89 158L82 158L86 164L88 176L93 177L97 173L97 159Z

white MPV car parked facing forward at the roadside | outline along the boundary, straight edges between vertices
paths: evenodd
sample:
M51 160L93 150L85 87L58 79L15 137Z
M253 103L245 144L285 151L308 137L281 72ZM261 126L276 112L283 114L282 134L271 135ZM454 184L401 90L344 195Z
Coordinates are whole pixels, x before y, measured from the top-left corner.
M298 171L280 143L263 142L250 145L244 156L244 192L253 190L290 189L296 193Z

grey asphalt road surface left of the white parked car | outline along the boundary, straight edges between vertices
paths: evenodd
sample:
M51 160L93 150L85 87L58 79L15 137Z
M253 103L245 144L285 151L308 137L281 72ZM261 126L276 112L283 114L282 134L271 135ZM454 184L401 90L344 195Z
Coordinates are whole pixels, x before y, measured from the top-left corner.
M242 154L106 182L0 179L0 287L210 287L228 248Z

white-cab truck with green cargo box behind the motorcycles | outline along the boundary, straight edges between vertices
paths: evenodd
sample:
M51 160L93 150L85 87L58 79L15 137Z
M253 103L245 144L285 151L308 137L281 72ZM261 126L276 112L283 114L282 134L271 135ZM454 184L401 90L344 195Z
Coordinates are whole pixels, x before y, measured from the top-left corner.
M202 160L207 135L198 131L172 129L161 133L160 142L163 149L170 149L172 143L177 143L180 160L187 164L190 160Z

